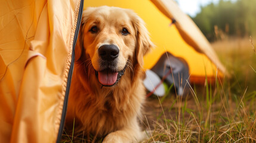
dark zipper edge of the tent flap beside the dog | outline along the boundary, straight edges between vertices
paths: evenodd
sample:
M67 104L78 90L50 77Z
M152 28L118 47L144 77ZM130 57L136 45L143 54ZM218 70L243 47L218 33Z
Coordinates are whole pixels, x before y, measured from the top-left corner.
M60 128L58 129L58 136L57 136L57 141L56 141L57 143L60 142L60 139L61 139L61 136L63 133L63 129L64 129L64 122L65 122L66 112L67 112L67 100L69 99L69 89L70 89L70 83L71 83L71 79L72 79L74 60L75 60L75 46L76 46L76 41L78 39L78 33L79 33L79 29L80 29L80 24L81 24L83 8L84 8L84 0L81 0L80 7L79 7L79 13L78 13L78 21L76 23L75 36L73 39L72 58L71 58L71 63L70 63L69 74L67 76L67 88L66 88L63 109L62 109L62 114L61 114Z

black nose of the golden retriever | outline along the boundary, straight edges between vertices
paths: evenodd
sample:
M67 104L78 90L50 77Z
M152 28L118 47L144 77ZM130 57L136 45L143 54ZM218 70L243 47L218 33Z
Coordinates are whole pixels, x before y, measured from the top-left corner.
M116 45L102 45L98 48L98 55L105 61L113 61L119 55L119 49Z

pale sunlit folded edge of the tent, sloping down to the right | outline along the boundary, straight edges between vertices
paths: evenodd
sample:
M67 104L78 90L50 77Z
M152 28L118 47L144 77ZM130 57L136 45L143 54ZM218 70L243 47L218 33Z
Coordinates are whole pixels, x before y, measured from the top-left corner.
M175 26L177 30L180 32L182 38L196 51L205 54L209 60L214 63L218 70L222 73L227 73L225 67L221 64L220 60L218 60L217 55L211 48L210 43L205 38L201 30L199 30L198 26L189 18L188 15L184 14L178 5L174 1L170 0L150 0L153 4L158 7L158 9L166 15L166 17L175 20Z

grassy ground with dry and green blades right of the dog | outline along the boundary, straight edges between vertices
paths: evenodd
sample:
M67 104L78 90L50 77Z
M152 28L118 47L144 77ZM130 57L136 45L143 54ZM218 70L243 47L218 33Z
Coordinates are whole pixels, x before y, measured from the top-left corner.
M249 38L212 43L232 75L190 86L190 94L149 97L141 142L256 142L256 52ZM92 137L93 138L93 137ZM98 142L101 142L100 139ZM86 142L64 133L62 142Z

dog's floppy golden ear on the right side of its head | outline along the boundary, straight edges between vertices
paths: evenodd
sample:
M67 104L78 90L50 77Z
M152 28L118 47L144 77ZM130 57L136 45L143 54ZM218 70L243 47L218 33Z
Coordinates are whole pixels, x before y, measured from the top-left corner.
M149 52L150 48L154 46L152 41L150 41L149 32L147 31L145 27L144 21L138 17L138 15L135 15L134 17L134 29L135 29L135 35L137 40L136 45L136 60L140 66L143 66L143 56Z

